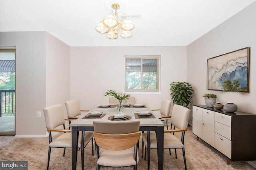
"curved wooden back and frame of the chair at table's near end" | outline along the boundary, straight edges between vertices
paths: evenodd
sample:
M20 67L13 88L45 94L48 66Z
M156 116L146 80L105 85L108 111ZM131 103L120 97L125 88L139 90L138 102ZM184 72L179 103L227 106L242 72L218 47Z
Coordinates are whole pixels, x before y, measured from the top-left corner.
M104 134L93 132L94 139L97 143L97 170L100 169L98 164L99 150L101 148L106 150L125 150L134 147L134 155L136 164L134 170L137 170L137 143L140 138L141 132L128 133L128 134Z

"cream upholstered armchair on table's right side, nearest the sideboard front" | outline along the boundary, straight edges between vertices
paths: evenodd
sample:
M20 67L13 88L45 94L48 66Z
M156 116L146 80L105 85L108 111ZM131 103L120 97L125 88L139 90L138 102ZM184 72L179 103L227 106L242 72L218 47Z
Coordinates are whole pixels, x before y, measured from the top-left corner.
M184 136L185 136L185 132L188 130L187 127L188 127L189 113L190 113L190 109L175 104L172 110L172 125L174 125L174 129L164 130L164 149L169 149L169 151L170 149L175 149L176 159L177 159L176 149L182 149L185 169L187 169L187 166L186 166L186 157L185 157L185 148L184 148ZM174 136L174 133L177 133L177 132L182 132L181 139L178 139L176 136ZM145 158L146 158L146 147L148 144L148 135L150 139L150 149L151 148L157 149L156 133L149 133L149 132L143 133L142 139L145 145ZM148 163L148 166L149 166L149 163Z

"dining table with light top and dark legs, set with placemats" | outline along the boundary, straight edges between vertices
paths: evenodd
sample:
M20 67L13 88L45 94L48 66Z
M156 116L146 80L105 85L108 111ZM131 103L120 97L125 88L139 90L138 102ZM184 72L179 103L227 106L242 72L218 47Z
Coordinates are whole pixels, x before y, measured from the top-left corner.
M141 115L148 111L152 115ZM100 114L100 116L94 116L92 113ZM156 115L146 104L130 104L124 106L123 112L126 118L114 119L114 114L118 114L116 104L97 105L90 109L80 118L73 121L70 126L72 127L72 170L76 170L77 164L77 148L78 148L78 134L79 131L94 131L93 121L103 122L120 122L120 121L140 121L140 131L147 132L148 141L150 141L149 132L155 131L157 137L157 155L158 155L158 170L164 168L164 124L160 121L158 115ZM91 117L92 116L92 117ZM148 165L150 163L150 143L148 142ZM148 166L149 167L149 166Z

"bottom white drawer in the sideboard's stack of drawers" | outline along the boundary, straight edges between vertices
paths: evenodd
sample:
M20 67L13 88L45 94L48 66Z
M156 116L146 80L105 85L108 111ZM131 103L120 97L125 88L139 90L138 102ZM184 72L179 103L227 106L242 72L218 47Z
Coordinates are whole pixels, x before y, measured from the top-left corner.
M218 133L214 133L214 148L222 152L222 154L226 155L228 158L232 159L231 141L219 135Z

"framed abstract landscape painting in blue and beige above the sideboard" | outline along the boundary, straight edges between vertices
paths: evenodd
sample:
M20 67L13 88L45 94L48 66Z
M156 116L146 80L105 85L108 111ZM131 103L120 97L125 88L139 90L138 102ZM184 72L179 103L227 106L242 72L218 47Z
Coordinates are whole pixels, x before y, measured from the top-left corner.
M207 59L208 90L223 90L226 79L238 80L241 91L249 92L250 47Z

